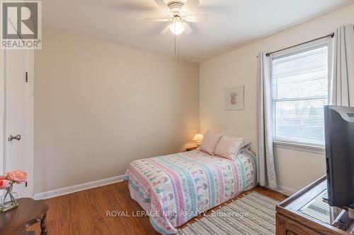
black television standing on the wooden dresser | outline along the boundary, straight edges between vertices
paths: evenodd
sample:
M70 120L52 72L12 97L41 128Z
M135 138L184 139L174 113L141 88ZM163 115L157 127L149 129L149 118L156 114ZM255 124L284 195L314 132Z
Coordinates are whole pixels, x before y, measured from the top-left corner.
M331 206L354 208L354 107L324 107L327 193Z

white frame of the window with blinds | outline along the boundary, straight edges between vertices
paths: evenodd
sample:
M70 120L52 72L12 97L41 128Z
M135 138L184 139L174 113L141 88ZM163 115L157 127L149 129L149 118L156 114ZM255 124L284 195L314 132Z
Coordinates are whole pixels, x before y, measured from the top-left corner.
M285 49L280 52L276 52L274 54L271 54L270 56L270 103L271 103L271 123L272 123L272 137L273 137L273 145L275 147L282 147L282 148L287 148L291 150L302 150L305 152L314 152L314 153L319 153L319 154L324 154L325 150L325 145L316 145L314 143L301 143L297 141L291 141L291 140L283 140L282 138L277 138L275 136L275 131L276 131L276 119L275 119L275 103L280 102L280 101L298 101L298 100L321 100L324 98L329 99L329 85L327 87L327 96L319 96L319 97L302 97L302 98L290 98L290 99L273 99L273 88L274 88L274 80L273 80L273 60L274 59L279 59L285 56L291 56L292 54L299 54L302 52L309 51L311 49L316 49L319 47L327 47L329 50L329 55L328 55L328 69L329 69L329 76L330 76L330 58L331 58L331 52L330 52L330 40L329 38L324 38L321 40L316 40L314 42L308 42L306 44L302 44L297 47L293 47L291 49ZM329 78L328 78L329 79Z

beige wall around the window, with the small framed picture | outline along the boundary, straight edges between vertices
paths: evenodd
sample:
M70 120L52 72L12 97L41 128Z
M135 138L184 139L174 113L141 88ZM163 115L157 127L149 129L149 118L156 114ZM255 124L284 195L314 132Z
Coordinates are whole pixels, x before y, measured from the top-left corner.
M258 52L271 52L327 35L341 25L354 23L354 5L316 18L290 30L236 49L200 66L200 131L210 129L256 138L256 82ZM224 89L245 85L244 111L224 111ZM325 174L324 155L275 149L278 183L287 193L297 191Z

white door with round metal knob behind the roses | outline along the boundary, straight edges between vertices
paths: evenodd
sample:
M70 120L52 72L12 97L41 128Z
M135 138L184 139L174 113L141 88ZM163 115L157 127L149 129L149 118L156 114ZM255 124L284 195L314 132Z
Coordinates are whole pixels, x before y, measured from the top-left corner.
M4 171L27 172L27 183L13 187L33 195L33 51L4 52Z

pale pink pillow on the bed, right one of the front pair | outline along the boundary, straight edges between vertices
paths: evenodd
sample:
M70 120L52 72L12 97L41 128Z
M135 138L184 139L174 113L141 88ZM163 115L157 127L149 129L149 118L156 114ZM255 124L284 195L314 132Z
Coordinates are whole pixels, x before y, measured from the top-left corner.
M241 147L244 145L244 138L232 138L223 135L217 144L217 149L215 150L215 155L220 157L225 157L230 160L236 159Z

